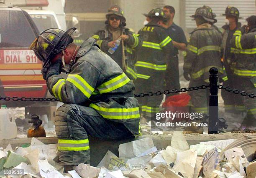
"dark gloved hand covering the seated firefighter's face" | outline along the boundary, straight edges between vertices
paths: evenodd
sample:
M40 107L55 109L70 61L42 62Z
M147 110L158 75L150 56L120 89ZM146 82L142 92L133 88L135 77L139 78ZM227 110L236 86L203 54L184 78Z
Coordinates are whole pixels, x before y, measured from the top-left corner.
M51 75L58 75L61 71L61 59L56 60L54 64L48 63L44 70L42 71L42 75L44 80L47 80Z

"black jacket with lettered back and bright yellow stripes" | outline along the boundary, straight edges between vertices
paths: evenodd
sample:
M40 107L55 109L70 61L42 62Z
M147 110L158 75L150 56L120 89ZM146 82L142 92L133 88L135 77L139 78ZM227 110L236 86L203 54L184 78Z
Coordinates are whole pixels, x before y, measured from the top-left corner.
M141 28L138 34L141 35L143 43L137 53L135 67L137 77L147 80L154 72L165 72L167 60L173 53L172 38L165 28L152 22Z

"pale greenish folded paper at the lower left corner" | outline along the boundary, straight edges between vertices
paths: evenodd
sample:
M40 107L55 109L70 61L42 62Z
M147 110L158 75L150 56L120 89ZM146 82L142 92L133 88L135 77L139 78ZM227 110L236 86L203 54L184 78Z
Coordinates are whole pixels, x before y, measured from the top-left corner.
M16 167L21 162L27 162L27 159L9 150L4 167L5 168Z

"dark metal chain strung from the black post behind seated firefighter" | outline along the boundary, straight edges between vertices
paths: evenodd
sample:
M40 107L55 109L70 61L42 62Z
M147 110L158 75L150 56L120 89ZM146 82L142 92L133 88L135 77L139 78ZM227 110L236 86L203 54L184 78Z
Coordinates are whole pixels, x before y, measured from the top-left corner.
M164 91L157 91L157 92L148 92L148 93L140 93L140 94L135 94L134 97L145 97L145 96L159 96L159 95L169 95L170 93L183 93L183 92L187 92L187 91L194 91L194 90L201 90L201 89L207 89L208 87L210 87L210 85L201 85L201 86L196 86L196 87L189 87L189 88L181 88L181 89L173 89L173 90L164 90ZM246 93L245 91L239 91L239 90L236 90L236 89L232 89L232 88L229 88L229 87L224 87L223 85L218 85L218 88L221 89L221 90L225 90L227 92L233 92L234 94L241 94L242 96L248 96L250 98L255 98L256 95L253 94L253 93ZM31 97L31 98L26 98L26 97L21 97L21 98L18 98L18 97L9 97L9 96L0 96L0 100L5 100L5 101L10 101L10 100L13 100L13 101L49 101L49 102L52 102L52 101L59 101L59 99L57 98L34 98L34 97Z

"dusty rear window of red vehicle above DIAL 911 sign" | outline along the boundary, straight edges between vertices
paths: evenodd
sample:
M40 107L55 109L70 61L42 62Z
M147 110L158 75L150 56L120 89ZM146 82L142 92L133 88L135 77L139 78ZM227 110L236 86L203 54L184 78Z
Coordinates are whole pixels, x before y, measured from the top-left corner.
M29 47L36 35L22 11L0 11L0 48Z

